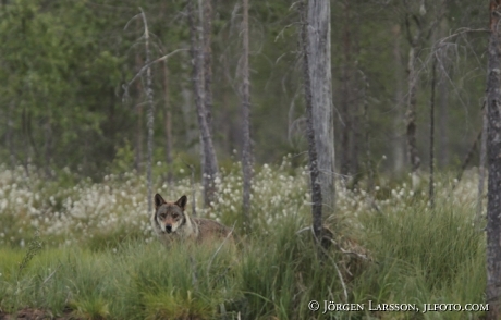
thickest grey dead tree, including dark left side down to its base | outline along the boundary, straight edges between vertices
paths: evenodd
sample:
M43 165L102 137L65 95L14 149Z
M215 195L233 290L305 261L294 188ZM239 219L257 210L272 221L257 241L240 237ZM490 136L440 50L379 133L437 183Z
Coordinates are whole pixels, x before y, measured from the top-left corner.
M322 238L322 206L334 207L334 151L330 74L330 3L300 4L304 87L311 184L313 232ZM315 90L313 89L315 88Z

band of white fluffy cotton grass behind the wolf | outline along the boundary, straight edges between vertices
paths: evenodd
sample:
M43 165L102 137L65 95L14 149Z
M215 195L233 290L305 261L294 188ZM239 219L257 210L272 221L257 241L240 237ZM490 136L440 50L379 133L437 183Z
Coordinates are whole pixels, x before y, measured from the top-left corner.
M9 169L0 165L0 245L23 246L33 238L35 230L39 231L46 244L52 246L113 236L135 236L145 242L154 239L143 175L132 172L107 174L99 183L76 176L73 179L77 181L74 184L48 181L33 168ZM207 210L203 208L201 185L197 182L192 186L188 173L172 185L158 177L154 193L162 194L168 200L188 196L190 213L192 195L195 193L198 217L215 219L231 226L242 219L241 163L221 169L215 184L218 192L211 208ZM467 171L453 190L452 184L452 180L437 179L437 198L451 198L460 206L475 204L478 184L475 170ZM363 230L356 219L361 213L374 212L374 206L381 212L405 210L416 196L427 197L427 189L424 188L426 176L421 185L421 189L412 189L410 182L392 186L378 183L369 194L362 182L353 189L344 188L338 182L335 213L343 217L351 227ZM256 168L252 190L254 226L271 231L277 223L290 217L300 217L304 225L310 224L309 171L307 167L293 168L290 156L284 157L279 165ZM326 219L331 213L323 211Z

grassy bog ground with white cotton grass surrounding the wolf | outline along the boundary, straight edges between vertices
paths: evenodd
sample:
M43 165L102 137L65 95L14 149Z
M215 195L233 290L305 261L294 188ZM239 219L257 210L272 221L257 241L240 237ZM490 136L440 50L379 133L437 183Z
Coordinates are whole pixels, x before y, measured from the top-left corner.
M33 169L33 168L32 168ZM157 173L164 170L158 163ZM183 170L182 170L183 171ZM250 233L244 236L240 164L217 181L210 211L190 172L155 190L166 199L197 195L197 214L236 222L236 250L225 245L162 247L156 241L136 173L102 182L62 172L46 181L24 168L0 171L0 309L23 308L81 319L476 319L482 312L383 312L377 304L484 304L484 222L475 217L474 171L453 189L427 192L378 181L374 194L338 186L334 234L318 260L310 233L307 171L291 157L255 172ZM191 204L188 202L188 207ZM376 209L377 208L377 209ZM191 209L190 209L191 210ZM320 310L308 309L310 300ZM365 310L323 312L323 300Z

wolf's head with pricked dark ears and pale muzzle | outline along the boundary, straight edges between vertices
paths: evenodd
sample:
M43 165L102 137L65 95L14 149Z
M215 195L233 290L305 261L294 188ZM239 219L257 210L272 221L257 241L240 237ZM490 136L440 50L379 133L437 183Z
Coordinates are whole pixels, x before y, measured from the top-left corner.
M159 194L155 195L155 220L162 232L175 233L180 226L186 223L186 216L184 214L186 201L186 196L182 196L175 202L167 202Z

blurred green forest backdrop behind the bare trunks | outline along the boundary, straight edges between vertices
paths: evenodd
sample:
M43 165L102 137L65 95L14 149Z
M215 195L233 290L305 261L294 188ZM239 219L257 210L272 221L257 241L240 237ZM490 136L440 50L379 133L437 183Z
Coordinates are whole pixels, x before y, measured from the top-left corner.
M213 144L223 164L242 145L241 16L239 2L212 4L210 111ZM184 163L199 167L186 1L175 0L2 1L0 155L4 162L35 164L49 177L63 168L97 179L110 170L144 170L145 84L131 84L129 98L123 90L145 61L143 22L133 19L138 7L148 19L152 59L186 49L166 64L151 66L154 163L172 161L174 174ZM256 163L279 163L288 153L295 164L307 162L300 17L293 7L294 1L253 1L249 7ZM466 28L485 29L484 3L333 1L331 11L337 173L363 176L367 156L379 172L393 176L408 172L408 61L416 36L421 169L427 170L431 58L436 57L437 165L460 171L481 128L487 33Z

